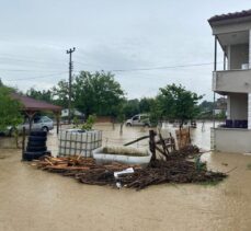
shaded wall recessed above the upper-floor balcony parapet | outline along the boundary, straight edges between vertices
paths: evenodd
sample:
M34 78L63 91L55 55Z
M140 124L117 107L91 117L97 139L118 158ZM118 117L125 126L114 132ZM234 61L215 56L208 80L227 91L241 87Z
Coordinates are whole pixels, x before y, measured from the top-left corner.
M241 69L242 63L249 63L249 45L239 44L230 46L229 69Z

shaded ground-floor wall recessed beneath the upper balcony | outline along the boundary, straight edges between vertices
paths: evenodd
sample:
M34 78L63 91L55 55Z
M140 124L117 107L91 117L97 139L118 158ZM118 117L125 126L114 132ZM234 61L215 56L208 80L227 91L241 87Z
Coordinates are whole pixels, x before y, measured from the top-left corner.
M228 95L230 99L230 118L231 119L248 119L248 94Z

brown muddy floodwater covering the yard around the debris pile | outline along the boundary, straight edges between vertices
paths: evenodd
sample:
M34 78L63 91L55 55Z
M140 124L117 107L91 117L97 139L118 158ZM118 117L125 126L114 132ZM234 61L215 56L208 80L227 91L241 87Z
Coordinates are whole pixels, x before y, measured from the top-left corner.
M193 142L209 150L209 127L192 130ZM98 125L103 143L119 145L148 132ZM48 147L57 152L57 137ZM7 142L7 140L5 140ZM147 147L147 141L135 147ZM251 157L206 152L209 169L229 172L212 185L164 184L140 192L79 184L21 162L21 151L0 149L0 230L251 230Z

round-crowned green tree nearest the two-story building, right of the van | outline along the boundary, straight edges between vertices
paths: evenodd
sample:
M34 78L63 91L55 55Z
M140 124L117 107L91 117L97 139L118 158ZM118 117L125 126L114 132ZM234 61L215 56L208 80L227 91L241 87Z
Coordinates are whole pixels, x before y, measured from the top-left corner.
M193 119L199 114L197 103L202 97L182 85L170 84L160 89L157 107L161 117L179 119L183 126L186 119Z

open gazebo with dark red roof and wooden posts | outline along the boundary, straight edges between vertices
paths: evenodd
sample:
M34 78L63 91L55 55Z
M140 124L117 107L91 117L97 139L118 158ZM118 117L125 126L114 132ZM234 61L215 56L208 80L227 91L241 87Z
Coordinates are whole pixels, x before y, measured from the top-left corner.
M28 117L30 122L30 130L32 127L32 120L36 113L38 112L53 112L56 115L57 119L57 134L59 132L59 119L60 119L60 112L61 107L57 105L49 104L44 101L38 101L32 97L28 97L26 95L18 94L18 93L12 93L11 96L23 105L23 112L25 115Z

